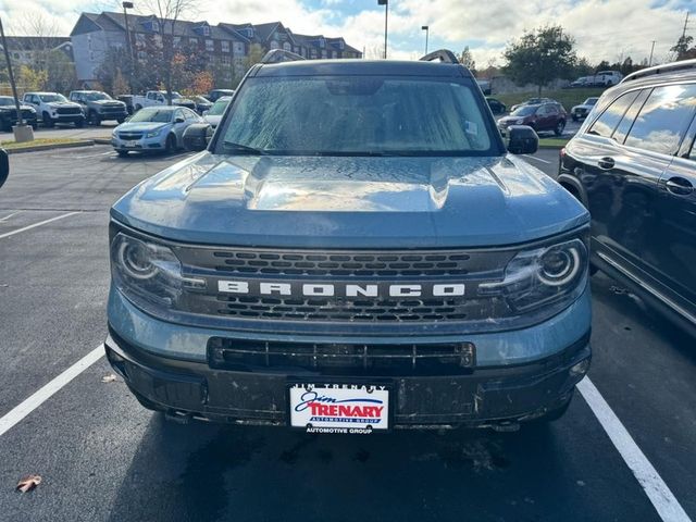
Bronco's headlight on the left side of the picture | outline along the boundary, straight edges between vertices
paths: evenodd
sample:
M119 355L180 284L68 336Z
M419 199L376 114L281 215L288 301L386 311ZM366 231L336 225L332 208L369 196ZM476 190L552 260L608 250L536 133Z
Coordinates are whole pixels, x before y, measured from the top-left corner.
M171 308L183 289L204 287L206 282L182 275L174 252L149 240L119 233L111 241L111 275L126 297Z

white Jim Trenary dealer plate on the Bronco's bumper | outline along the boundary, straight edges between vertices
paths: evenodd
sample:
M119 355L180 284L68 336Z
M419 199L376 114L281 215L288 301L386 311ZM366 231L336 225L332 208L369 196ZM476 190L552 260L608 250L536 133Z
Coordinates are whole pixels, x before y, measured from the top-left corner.
M293 384L290 425L310 433L368 434L389 430L384 384Z

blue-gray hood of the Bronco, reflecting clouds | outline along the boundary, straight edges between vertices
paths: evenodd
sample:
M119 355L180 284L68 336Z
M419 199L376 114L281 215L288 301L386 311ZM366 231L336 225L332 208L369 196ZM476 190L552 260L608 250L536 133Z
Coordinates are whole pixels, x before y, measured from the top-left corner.
M201 152L142 182L112 216L181 241L323 248L519 244L588 223L524 161L223 157Z

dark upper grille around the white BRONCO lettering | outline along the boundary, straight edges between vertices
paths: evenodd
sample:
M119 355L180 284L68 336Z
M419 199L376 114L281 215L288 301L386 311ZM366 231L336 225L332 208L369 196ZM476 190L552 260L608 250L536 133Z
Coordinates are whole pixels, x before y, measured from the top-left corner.
M184 272L207 276L204 288L187 289L175 308L198 315L236 320L377 323L473 322L512 314L498 297L477 295L483 281L499 281L511 250L319 251L175 247ZM333 284L335 296L262 295L219 291L217 281ZM343 295L347 284L464 284L463 296L378 297Z

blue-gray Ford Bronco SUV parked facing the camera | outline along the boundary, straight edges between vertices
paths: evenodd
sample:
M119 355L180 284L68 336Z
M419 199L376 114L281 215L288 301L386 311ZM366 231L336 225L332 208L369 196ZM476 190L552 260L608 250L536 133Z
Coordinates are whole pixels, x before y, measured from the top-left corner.
M146 408L355 434L566 411L589 215L451 53L272 51L184 141L111 210L107 355Z

